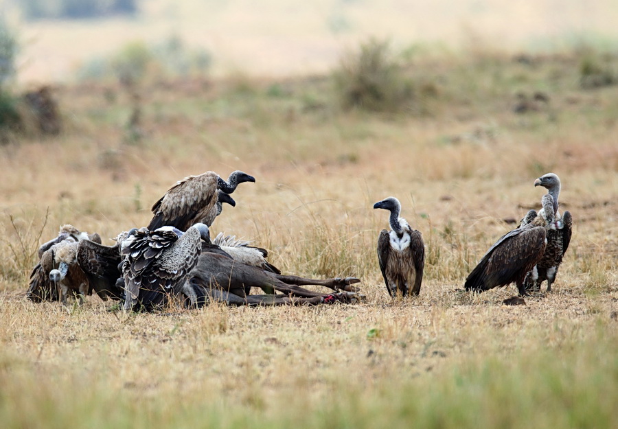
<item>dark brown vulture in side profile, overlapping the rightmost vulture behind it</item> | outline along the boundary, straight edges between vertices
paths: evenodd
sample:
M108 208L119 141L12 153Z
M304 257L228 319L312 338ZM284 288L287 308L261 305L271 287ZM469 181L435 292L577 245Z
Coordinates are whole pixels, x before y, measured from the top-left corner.
M546 194L541 201L542 213L490 247L466 278L466 290L483 292L515 282L519 294L526 294L525 277L545 252L547 230L553 223L553 198Z

